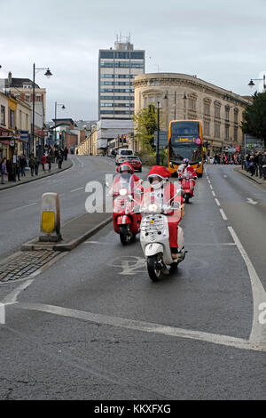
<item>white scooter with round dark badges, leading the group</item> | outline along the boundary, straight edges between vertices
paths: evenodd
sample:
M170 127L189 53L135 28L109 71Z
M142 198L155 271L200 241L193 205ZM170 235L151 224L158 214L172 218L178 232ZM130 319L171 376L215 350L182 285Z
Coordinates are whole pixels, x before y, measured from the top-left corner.
M172 258L171 248L169 245L168 216L165 213L173 211L173 209L184 209L184 205L173 202L168 205L176 196L183 194L183 190L178 190L176 195L172 197L167 205L157 203L150 204L148 211L145 208L141 211L145 215L141 222L140 243L147 260L147 269L153 282L160 280L164 275L168 275L176 271L179 262L184 260L184 232L178 225L177 243L179 251L177 258Z

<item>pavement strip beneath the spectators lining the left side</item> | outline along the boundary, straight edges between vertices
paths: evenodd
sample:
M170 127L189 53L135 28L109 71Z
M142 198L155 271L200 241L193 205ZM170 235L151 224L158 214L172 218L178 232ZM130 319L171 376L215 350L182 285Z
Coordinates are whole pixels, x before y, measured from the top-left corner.
M63 161L62 168L60 168L60 169L59 169L59 165L57 163L51 163L51 172L49 172L49 171L44 171L43 172L43 165L40 164L38 175L31 176L30 170L26 170L26 176L25 177L21 177L21 173L20 173L20 181L19 180L17 180L17 181L7 181L7 176L5 176L5 183L4 184L0 183L0 190L10 189L12 187L19 186L20 184L28 183L29 181L35 181L35 180L43 179L43 177L48 177L50 175L60 173L64 170L67 170L72 165L73 165L72 161L69 158L67 158L66 161L65 160Z

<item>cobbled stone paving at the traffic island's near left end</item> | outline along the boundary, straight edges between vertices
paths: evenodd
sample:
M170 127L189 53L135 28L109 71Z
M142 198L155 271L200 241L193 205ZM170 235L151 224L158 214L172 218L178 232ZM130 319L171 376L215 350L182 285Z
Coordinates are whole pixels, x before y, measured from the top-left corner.
M0 282L28 277L59 255L56 251L20 251L0 261Z

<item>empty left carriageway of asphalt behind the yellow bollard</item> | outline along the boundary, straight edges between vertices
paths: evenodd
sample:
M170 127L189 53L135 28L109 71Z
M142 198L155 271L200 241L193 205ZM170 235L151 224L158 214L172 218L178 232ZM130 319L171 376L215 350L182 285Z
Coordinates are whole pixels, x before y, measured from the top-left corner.
M114 173L114 162L105 157L70 156L73 167L59 174L0 191L0 258L16 250L40 232L43 193L59 194L61 222L85 213L85 186L104 181Z

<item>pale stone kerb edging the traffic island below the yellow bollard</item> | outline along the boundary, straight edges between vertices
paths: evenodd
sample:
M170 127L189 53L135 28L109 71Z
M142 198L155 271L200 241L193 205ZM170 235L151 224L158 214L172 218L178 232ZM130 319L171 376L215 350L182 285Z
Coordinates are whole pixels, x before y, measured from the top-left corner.
M75 220L78 220L80 217L75 218ZM95 235L100 229L104 228L108 223L113 221L113 217L108 217L105 221L101 221L96 225L94 228L89 229L84 234L75 237L71 241L68 241L66 243L59 242L58 244L55 243L41 243L39 242L38 238L34 238L31 241L28 241L27 243L21 245L21 251L40 251L40 250L53 250L53 251L59 251L59 252L65 252L65 251L71 251L73 250L77 245L81 244L86 239L92 237ZM67 222L69 223L69 222Z

